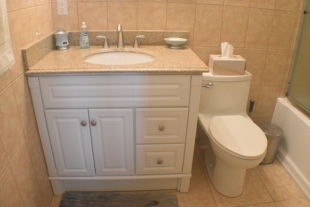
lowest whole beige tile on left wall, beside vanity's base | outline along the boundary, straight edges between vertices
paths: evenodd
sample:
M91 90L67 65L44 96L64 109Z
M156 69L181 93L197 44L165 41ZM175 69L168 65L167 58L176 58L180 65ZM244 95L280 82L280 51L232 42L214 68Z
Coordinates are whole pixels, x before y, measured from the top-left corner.
M23 142L16 152L16 155L10 162L10 168L23 203L27 206L37 184L37 179L32 168L26 142Z

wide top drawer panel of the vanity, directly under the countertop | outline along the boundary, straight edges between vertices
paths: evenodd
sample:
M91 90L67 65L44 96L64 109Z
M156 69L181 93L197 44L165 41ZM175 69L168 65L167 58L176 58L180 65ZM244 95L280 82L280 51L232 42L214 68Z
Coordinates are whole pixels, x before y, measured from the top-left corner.
M44 108L188 106L190 75L40 77Z

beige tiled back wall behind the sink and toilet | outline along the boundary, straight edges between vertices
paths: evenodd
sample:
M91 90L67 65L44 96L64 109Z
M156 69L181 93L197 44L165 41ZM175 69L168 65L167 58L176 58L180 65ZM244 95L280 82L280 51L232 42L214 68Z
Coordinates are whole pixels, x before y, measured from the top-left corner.
M305 0L68 0L68 16L57 16L54 30L185 30L188 46L208 64L229 42L252 73L249 99L254 121L270 121L276 98L283 96L292 67L296 34Z

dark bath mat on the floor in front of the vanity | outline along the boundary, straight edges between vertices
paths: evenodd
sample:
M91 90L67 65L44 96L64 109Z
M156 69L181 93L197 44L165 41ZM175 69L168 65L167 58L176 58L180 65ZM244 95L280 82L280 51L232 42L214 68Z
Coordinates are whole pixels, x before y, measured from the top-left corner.
M146 207L147 204L152 207L179 206L172 192L66 192L60 207Z

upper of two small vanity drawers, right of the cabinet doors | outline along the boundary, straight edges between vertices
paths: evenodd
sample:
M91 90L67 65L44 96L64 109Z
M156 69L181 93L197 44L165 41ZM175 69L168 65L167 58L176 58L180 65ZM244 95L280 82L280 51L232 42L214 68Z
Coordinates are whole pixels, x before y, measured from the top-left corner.
M185 143L188 108L136 109L136 143Z

